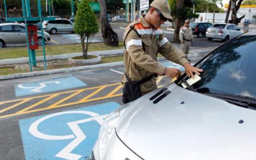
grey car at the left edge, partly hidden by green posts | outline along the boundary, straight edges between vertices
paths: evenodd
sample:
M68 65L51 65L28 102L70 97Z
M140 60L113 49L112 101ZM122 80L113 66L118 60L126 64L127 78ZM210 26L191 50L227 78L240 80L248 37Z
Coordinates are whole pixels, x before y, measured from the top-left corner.
M37 31L38 44L42 45L42 33ZM44 41L51 41L51 36L44 32ZM17 23L0 24L0 48L10 44L26 44L26 27Z

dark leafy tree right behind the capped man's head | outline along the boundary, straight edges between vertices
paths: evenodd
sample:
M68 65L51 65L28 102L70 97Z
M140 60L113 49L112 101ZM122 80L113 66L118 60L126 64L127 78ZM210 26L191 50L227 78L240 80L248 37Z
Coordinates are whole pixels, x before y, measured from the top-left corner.
M180 27L186 19L197 18L199 15L193 13L193 0L170 0L170 8L172 17L175 22L173 40L179 41Z

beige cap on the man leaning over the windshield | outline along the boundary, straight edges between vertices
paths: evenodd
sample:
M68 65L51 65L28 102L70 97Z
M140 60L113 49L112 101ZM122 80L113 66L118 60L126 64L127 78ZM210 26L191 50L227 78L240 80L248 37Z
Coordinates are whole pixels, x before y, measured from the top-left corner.
M157 8L166 19L172 19L170 8L165 0L154 0L150 6Z

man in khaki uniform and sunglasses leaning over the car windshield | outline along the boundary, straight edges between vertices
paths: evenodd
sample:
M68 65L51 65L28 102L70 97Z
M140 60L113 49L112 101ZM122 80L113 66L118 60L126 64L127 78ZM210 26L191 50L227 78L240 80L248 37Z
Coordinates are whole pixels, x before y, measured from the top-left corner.
M126 28L124 33L124 67L127 76L125 74L122 76L123 85L127 83L127 78L130 81L141 81L141 79L154 73L172 78L179 77L179 69L167 68L157 62L158 52L166 59L184 66L189 77L193 77L193 73L199 75L202 72L202 69L191 66L185 55L164 37L160 26L168 19L172 19L172 17L166 1L155 0L150 4L150 9L146 15L132 22ZM140 84L142 95L156 88L155 76Z

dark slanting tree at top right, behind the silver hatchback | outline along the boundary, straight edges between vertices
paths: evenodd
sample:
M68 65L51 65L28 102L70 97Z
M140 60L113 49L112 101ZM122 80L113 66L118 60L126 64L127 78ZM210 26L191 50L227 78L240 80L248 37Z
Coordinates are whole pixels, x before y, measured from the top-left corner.
M245 15L243 15L240 18L237 18L237 11L239 10L241 3L243 3L243 0L230 0L228 3L228 10L227 10L227 14L226 14L226 18L225 18L225 22L228 22L228 17L229 17L229 13L230 10L232 10L232 14L231 14L231 20L229 21L232 24L238 24L241 19L243 19L245 17Z

